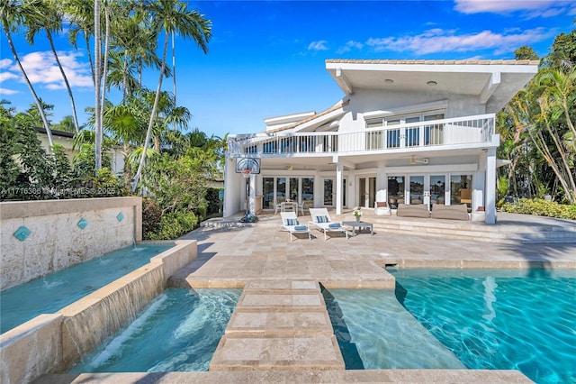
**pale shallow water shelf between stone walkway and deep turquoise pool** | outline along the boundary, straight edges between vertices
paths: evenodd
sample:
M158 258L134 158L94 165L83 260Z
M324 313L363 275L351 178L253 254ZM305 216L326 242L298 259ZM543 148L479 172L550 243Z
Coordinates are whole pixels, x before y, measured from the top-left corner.
M347 370L465 369L393 289L324 289L323 295Z

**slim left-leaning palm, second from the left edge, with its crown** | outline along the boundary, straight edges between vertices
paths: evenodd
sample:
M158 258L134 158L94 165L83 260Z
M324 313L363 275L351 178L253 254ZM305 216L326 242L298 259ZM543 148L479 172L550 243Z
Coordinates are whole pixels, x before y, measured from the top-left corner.
M50 43L50 49L52 50L52 54L54 55L54 59L56 59L56 63L58 64L58 69L60 69L60 74L64 79L64 83L67 88L68 97L70 99L70 104L72 105L72 117L74 119L74 128L76 133L79 131L79 124L78 124L78 117L76 114L76 104L74 102L74 96L72 95L72 89L70 88L70 83L68 82L68 78L66 76L66 72L62 68L62 63L60 63L60 59L58 58L58 53L56 52L56 47L54 46L54 40L52 39L52 32L62 32L62 14L59 13L58 3L54 2L53 0L48 0L46 2L41 3L40 8L35 8L34 13L34 23L30 23L28 27L28 31L26 32L26 41L28 41L31 45L34 44L34 37L40 30L44 30L46 32L46 37Z

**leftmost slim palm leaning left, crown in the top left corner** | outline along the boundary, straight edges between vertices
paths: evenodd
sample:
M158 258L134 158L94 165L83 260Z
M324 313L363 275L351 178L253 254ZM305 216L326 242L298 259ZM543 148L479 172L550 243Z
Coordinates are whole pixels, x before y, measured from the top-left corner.
M22 72L24 81L30 89L32 97L34 98L34 102L38 107L40 119L44 129L46 130L46 134L48 135L49 148L50 151L52 151L54 148L54 140L52 139L52 131L50 130L48 119L46 118L46 114L44 114L44 109L42 108L40 97L36 95L36 91L34 90L34 87L32 87L30 78L28 78L26 71L23 69L22 62L18 57L18 53L14 47L14 41L12 41L11 35L11 32L18 30L23 24L34 23L34 9L40 5L40 0L32 0L23 4L20 4L16 0L3 0L0 2L0 18L2 18L2 27L4 29L6 39L8 40L10 50L12 50L12 55L14 56L16 64L18 64L18 69L20 69Z

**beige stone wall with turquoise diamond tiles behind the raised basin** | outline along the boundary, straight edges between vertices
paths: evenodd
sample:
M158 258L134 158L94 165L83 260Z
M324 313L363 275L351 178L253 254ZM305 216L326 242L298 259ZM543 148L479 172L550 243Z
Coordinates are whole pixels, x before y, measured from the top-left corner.
M0 290L141 240L141 197L0 203Z

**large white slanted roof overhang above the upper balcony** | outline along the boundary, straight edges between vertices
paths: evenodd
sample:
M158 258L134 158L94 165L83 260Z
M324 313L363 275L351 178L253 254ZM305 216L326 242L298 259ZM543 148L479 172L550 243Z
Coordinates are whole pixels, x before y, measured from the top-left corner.
M536 75L538 61L329 59L326 69L347 95L380 89L477 96L495 113Z

